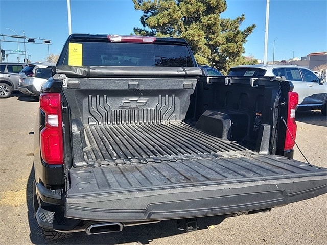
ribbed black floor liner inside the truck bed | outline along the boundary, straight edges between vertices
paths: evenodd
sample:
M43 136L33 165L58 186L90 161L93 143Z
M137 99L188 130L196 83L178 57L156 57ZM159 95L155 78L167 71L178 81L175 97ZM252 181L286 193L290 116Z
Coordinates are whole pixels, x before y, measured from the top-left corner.
M87 125L84 130L84 159L92 165L256 155L236 142L221 140L182 122Z

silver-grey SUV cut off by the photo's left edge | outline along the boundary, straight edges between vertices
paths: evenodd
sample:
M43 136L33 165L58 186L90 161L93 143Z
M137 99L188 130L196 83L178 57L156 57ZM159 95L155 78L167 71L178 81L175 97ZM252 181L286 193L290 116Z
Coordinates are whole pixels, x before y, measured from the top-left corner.
M25 66L23 63L0 63L0 98L7 98L17 90L18 74Z

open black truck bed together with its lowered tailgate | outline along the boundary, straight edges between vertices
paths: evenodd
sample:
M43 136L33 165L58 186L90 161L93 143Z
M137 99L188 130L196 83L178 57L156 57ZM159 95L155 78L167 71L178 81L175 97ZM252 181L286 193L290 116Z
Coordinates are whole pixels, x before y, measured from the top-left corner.
M142 222L258 212L327 191L326 169L239 143L256 148L256 129L275 126L279 81L227 86L173 68L164 77L102 69L108 78L69 79L64 88L72 129L65 217ZM262 137L268 146L276 140L273 130Z

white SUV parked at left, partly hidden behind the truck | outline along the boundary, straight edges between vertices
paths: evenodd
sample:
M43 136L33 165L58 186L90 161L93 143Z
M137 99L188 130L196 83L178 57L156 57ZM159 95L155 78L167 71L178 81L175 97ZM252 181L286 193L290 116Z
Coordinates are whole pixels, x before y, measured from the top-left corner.
M19 72L18 90L38 98L43 84L52 76L51 70L46 68L55 65L53 63L28 64Z

